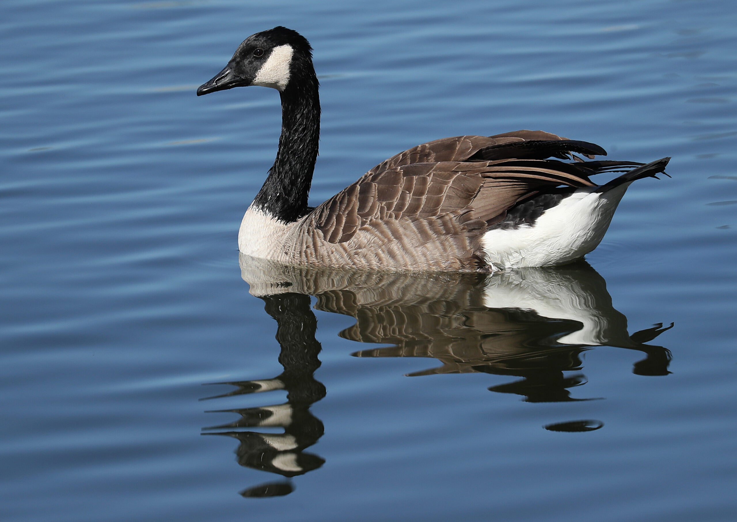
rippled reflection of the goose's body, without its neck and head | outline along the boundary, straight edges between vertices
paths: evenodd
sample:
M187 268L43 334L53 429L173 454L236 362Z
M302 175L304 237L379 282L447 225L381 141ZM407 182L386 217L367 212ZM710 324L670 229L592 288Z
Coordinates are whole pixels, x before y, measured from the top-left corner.
M672 325L627 333L604 278L589 264L525 268L492 275L387 274L283 267L241 257L254 295L297 292L315 308L356 319L340 336L391 344L357 357L430 357L442 366L413 373L483 372L522 378L491 387L525 401L573 401L568 389L586 382L581 353L595 346L639 350L638 375L667 375L671 353L646 345Z

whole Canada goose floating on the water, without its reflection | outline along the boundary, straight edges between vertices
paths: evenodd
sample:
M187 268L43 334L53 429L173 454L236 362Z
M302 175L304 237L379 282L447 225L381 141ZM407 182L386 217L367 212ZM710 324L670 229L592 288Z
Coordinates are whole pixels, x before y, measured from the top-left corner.
M574 153L607 152L542 131L456 136L400 152L310 208L320 134L310 43L286 27L257 32L197 94L248 85L279 91L282 135L238 246L287 264L482 272L565 264L599 244L629 184L657 177L670 159L583 161ZM596 185L589 177L601 172L626 173Z

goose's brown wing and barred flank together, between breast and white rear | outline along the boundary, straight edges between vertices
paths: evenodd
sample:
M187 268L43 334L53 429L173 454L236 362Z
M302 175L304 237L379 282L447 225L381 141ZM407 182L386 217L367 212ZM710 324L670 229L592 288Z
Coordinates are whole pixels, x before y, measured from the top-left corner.
M567 144L551 144L564 140L520 130L444 138L400 152L308 214L290 255L336 266L481 268L478 239L517 202L556 186L593 186L588 175L618 166L539 158L567 152ZM517 143L523 147L507 146ZM598 150L585 142L570 146ZM520 151L523 158L514 158Z

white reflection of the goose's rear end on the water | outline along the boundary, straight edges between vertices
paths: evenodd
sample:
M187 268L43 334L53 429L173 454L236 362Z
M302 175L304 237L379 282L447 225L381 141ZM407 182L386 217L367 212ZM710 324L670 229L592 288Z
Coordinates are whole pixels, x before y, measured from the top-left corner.
M611 342L618 317L613 308L597 308L596 296L576 278L554 270L528 268L492 275L483 289L487 308L522 308L540 317L581 322L582 328L558 339L565 345L598 346ZM624 332L626 334L626 332Z

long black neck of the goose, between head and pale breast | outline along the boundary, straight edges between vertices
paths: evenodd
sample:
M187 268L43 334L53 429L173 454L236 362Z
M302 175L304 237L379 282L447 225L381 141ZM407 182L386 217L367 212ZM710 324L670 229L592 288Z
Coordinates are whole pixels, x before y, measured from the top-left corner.
M309 72L312 74L305 77L293 74L293 81L281 92L279 151L254 199L254 206L285 223L307 214L307 195L318 156L320 96L315 71Z

